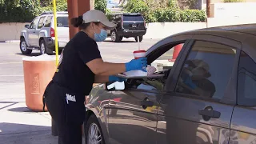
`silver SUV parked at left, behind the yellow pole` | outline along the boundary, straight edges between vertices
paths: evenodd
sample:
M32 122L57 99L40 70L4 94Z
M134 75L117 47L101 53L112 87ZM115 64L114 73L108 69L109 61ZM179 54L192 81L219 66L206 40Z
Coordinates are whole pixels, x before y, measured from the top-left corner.
M67 12L57 13L57 31L59 52L69 42L69 21ZM53 54L55 51L54 14L43 13L25 26L20 36L22 54L31 54L32 50L40 50L41 54Z

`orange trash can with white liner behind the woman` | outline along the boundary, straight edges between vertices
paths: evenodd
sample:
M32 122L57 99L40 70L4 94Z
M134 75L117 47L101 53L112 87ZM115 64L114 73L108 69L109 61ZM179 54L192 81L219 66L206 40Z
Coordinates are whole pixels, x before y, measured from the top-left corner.
M55 62L53 57L46 58L46 60L40 56L23 58L26 106L30 110L43 111L42 96L56 71Z

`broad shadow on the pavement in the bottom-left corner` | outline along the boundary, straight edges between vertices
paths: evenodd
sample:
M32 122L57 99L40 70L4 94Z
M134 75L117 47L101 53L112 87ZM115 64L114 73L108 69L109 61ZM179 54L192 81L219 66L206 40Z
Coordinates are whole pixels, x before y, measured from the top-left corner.
M51 135L50 126L34 126L16 123L0 123L0 143L6 144L54 144L58 137Z

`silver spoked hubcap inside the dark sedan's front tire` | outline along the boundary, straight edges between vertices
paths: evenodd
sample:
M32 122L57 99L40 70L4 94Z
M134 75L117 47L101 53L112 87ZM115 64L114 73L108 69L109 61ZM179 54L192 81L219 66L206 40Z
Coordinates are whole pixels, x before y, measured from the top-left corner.
M95 123L92 123L90 125L87 138L88 144L102 144L102 135L100 133L98 126Z

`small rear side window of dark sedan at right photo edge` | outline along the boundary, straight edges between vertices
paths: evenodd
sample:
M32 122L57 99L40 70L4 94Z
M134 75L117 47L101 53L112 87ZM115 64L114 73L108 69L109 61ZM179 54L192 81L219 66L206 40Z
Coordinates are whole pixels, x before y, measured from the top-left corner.
M256 106L256 63L244 52L239 58L238 105Z

